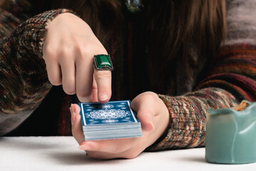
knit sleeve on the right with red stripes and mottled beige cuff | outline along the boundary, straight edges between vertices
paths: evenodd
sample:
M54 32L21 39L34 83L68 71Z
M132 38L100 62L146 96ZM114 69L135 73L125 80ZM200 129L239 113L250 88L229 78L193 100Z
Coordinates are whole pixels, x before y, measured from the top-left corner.
M205 80L193 92L159 95L170 112L165 135L147 150L205 145L207 108L231 108L256 100L256 1L227 1L227 39Z

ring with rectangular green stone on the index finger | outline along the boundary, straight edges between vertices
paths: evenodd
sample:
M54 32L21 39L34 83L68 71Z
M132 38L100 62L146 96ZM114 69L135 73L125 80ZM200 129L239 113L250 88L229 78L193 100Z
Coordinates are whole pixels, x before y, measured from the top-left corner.
M98 71L113 71L113 64L110 55L95 55L93 59L94 68Z

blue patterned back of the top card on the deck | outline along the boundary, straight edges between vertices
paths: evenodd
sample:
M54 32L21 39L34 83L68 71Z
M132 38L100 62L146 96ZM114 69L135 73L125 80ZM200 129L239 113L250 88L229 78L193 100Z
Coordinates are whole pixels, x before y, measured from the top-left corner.
M83 126L139 123L134 111L130 108L130 100L110 101L106 104L98 102L79 103L79 106Z

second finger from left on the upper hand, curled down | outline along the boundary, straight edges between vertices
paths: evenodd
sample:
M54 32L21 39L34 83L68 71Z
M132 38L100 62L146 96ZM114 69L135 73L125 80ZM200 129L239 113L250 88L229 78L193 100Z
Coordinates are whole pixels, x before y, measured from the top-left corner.
M61 61L62 86L65 93L73 95L76 93L76 67L70 56L63 57Z

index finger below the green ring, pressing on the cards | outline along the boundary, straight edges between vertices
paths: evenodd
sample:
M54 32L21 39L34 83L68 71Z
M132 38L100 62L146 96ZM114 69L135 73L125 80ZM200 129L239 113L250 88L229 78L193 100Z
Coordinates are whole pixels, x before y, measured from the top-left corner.
M98 101L107 103L111 98L111 71L97 71L94 69L94 78L98 88Z

